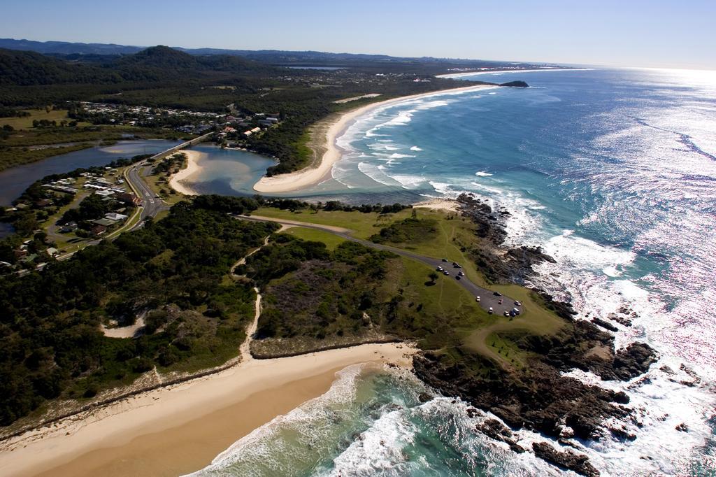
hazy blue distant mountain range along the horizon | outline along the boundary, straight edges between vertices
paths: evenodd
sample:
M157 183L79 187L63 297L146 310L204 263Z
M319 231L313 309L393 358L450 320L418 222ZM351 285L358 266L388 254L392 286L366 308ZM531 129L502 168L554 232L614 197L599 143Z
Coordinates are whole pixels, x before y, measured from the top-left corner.
M147 47L128 46L105 43L71 43L71 42L35 42L27 39L0 39L0 48L14 49L29 52L38 52L63 57L74 57L85 61L106 60L108 56L129 55L140 52ZM290 52L283 50L248 50L248 49L218 49L218 48L182 48L172 47L175 50L192 55L227 55L253 59L262 63L280 66L352 66L356 63L382 62L392 63L421 63L421 64L451 64L465 67L495 67L516 63L496 62L481 59L449 59L433 57L390 57L384 54L352 54L352 53L326 53L326 52ZM526 64L525 64L526 65Z

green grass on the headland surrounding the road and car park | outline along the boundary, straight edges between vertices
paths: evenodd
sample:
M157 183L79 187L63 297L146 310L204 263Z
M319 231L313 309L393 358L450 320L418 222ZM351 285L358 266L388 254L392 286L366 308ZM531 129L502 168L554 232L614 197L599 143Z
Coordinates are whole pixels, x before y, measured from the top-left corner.
M412 216L412 210L406 209L400 213L379 215L378 213L361 212L325 212L302 211L292 213L276 208L260 208L256 215L274 218L285 218L294 221L304 221L321 225L339 226L354 231L358 238L369 238L391 223L402 221ZM417 254L446 258L458 261L463 265L463 271L468 278L476 284L487 286L485 277L480 274L463 247L468 249L475 246L476 238L473 223L455 213L445 211L429 211L418 209L418 218L432 218L437 221L435 233L426 236L420 241L410 244L390 244L400 249L414 251ZM287 233L307 240L324 241L329 247L335 247L341 240L332 233L315 231L307 228L291 228ZM499 362L504 367L523 367L526 355L511 342L510 335L515 333L528 334L555 334L564 325L559 318L542 306L541 300L533 292L516 284L490 285L506 297L522 302L522 314L513 319L489 315L480 308L474 297L467 290L453 280L445 280L440 276L435 285L426 286L427 274L432 269L411 259L401 259L400 270L392 270L392 276L387 283L402 289L405 302L422 304L427 309L427 316L434 319L425 319L425 322L414 323L418 335L425 339L420 343L427 349L442 348L448 352L450 347L458 347L463 352L477 352L490 360ZM395 291L395 290L394 290ZM440 317L450 317L448 320ZM440 327L449 326L442 332L436 332ZM422 332L420 330L422 329ZM495 345L493 346L493 342Z

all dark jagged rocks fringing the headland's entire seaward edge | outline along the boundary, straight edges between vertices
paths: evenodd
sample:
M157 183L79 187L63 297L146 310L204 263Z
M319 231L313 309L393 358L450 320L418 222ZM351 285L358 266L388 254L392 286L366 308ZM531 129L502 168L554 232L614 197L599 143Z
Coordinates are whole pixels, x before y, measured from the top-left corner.
M476 234L483 246L470 250L470 255L490 281L524 284L534 273L534 265L553 261L539 248L502 246L506 236L503 221L508 211L493 210L468 194L460 196L458 203L460 213L477 226ZM414 357L415 373L443 394L460 397L503 420L511 429L497 420L488 420L478 426L478 431L518 452L528 450L513 435L513 430L522 428L565 445L571 445L569 438L573 437L599 440L611 435L633 440L635 436L624 428L604 425L609 418L629 420L627 394L588 385L563 373L576 368L593 372L602 380L632 380L649 370L657 360L656 352L639 342L615 350L614 336L599 327L611 329L609 322L574 319L576 313L569 303L556 302L544 291L535 293L563 319L564 325L556 334L513 332L508 336L528 356L525 366L505 367L468 352L459 360L446 359L439 352L425 352ZM535 443L531 450L558 467L584 476L599 475L582 454L556 450L549 443Z

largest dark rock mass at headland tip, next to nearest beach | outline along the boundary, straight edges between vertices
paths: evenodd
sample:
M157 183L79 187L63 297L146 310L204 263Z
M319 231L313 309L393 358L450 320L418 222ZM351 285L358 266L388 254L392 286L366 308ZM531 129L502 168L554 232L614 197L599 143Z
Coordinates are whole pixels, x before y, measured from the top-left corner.
M578 368L604 380L631 380L656 360L656 352L648 344L634 343L615 351L611 334L591 322L574 319L566 320L558 334L526 334L513 341L531 356L523 368L500 367L476 355L450 362L427 352L414 358L415 373L445 395L458 396L489 411L515 430L535 430L556 440L599 440L605 435L635 438L627 430L603 425L608 418L629 418L627 394L587 385L563 372ZM521 448L508 429L495 423L486 422L478 430L508 443L513 450ZM550 451L543 445L535 453L582 475L599 475L585 456Z

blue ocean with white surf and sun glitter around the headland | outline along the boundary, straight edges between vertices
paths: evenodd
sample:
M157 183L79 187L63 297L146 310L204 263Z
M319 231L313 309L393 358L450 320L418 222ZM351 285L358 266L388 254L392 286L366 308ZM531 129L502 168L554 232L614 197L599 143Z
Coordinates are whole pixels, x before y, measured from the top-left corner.
M543 246L556 259L533 285L571 301L580 318L628 317L617 346L638 340L659 352L634 382L569 373L624 390L636 416L620 423L634 441L576 445L602 475L715 475L716 72L474 79L531 87L369 112L339 138L346 153L334 178L301 195L392 203L472 192L508 208L507 245ZM559 473L476 434L485 417L469 418L463 403L419 403L421 386L389 370L348 370L328 395L239 440L199 475Z

